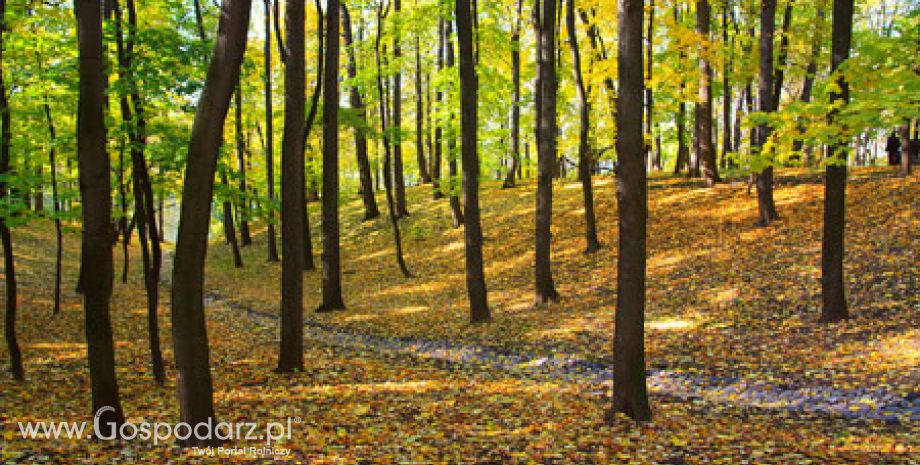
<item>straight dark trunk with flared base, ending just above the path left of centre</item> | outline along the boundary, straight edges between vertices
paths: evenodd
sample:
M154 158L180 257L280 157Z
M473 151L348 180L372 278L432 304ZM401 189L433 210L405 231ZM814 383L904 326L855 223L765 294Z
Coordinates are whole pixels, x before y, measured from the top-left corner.
M339 253L339 1L326 5L323 77L323 303L319 312L345 308Z

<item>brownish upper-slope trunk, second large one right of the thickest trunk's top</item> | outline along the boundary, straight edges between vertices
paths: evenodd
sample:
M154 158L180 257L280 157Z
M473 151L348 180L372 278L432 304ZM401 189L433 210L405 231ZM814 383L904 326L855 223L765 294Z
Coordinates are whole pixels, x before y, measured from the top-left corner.
M700 48L700 89L699 89L699 114L697 126L699 127L699 162L702 165L703 178L708 186L720 182L719 167L716 164L716 148L712 137L712 66L709 64L709 23L711 9L709 0L696 2L696 31L705 40Z

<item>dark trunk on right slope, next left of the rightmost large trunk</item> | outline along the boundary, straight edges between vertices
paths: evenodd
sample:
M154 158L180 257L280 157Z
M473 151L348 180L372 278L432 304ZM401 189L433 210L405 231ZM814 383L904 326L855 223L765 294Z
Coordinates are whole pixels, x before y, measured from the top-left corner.
M760 12L760 81L757 87L760 111L776 111L776 98L773 96L773 35L776 29L776 0L763 0ZM770 137L770 126L762 124L757 127L756 150L765 159L768 166L757 175L757 207L760 211L760 225L767 226L779 219L776 204L773 202L773 166L772 156L763 153L763 147Z

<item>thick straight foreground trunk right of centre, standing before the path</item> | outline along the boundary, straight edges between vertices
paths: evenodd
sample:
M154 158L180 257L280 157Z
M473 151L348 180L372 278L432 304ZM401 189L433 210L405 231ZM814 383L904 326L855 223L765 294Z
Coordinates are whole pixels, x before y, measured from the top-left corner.
M648 194L642 141L642 0L619 0L617 175L619 254L613 340L613 406L607 419L624 413L652 417L645 383L645 266Z

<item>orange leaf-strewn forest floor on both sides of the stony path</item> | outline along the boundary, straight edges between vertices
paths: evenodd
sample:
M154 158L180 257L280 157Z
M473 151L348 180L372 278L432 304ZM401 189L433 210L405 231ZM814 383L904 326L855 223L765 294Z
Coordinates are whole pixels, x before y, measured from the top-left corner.
M754 226L756 201L743 183L702 188L680 178L650 182L647 340L650 368L759 380L774 386L883 387L916 394L920 331L916 271L918 178L885 169L852 173L845 261L853 318L826 326L820 311L821 178L781 170L783 217ZM409 190L401 222L404 279L389 225L362 222L360 201L343 203L348 310L307 312L310 327L391 340L446 341L546 360L608 364L615 301L613 180L597 180L604 249L584 255L578 183L555 190L554 272L559 304L532 305L533 185L482 195L486 277L494 321L468 323L462 229L430 188ZM382 201L382 198L378 198ZM381 203L381 207L384 204ZM315 208L315 206L311 206ZM311 212L314 244L318 212ZM214 462L173 444L140 440L27 440L20 421L91 421L82 305L73 293L79 237L65 242L64 306L50 315L54 241L44 223L14 231L20 278L25 383L0 376L4 463ZM404 351L333 344L308 331L306 371L271 372L277 358L279 267L265 237L234 269L228 248L211 247L208 307L215 402L223 421L299 417L279 447L306 463L915 463L918 423L848 419L750 408L655 392L652 423L602 423L604 390ZM169 305L162 306L167 386L149 374L144 296L132 250L128 284L117 284L112 318L123 405L134 421L178 421ZM317 254L318 259L318 254ZM116 253L116 268L121 259ZM319 304L319 272L305 274L307 308ZM2 286L0 286L2 288ZM164 297L168 298L168 292ZM241 309L246 308L251 312ZM5 347L0 362L8 363ZM261 443L246 444L259 446ZM278 456L276 459L281 459ZM246 461L251 457L223 457ZM267 459L266 459L267 460Z

